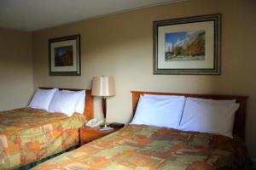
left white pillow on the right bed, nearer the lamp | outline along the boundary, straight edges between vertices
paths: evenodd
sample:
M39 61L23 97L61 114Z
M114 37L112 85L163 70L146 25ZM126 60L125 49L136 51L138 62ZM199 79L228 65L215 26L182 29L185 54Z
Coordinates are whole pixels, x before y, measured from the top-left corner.
M141 96L131 124L177 128L183 113L185 98L170 96L170 99L150 99Z

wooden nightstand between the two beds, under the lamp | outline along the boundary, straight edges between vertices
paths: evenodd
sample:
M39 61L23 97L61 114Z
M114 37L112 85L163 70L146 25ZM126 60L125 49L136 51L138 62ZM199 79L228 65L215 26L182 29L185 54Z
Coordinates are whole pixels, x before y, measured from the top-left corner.
M99 129L100 127L81 127L80 128L80 144L83 145L95 139L102 138L103 136L113 133L119 130L120 128L114 128L108 131L100 131Z

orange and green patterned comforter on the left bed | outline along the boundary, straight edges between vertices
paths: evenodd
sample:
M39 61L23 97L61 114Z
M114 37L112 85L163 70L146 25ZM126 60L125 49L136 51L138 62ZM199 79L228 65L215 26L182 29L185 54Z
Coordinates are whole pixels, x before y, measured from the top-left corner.
M13 169L79 144L85 118L22 108L0 112L0 169Z

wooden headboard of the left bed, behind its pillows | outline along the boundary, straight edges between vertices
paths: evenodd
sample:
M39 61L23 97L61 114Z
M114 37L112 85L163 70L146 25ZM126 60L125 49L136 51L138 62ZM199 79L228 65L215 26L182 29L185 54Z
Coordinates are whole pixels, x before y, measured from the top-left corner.
M45 88L40 87L41 89L52 89L52 88ZM70 90L70 91L80 91L85 90L85 109L84 109L84 116L87 120L90 120L94 117L94 109L93 109L93 96L91 95L90 89L76 89L76 88L59 88L60 90Z

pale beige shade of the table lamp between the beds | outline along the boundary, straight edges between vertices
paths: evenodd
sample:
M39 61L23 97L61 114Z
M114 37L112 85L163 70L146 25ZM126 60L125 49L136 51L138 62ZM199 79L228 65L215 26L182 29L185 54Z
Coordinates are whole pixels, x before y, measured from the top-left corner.
M113 77L94 77L92 79L91 94L102 97L114 96L115 88Z

